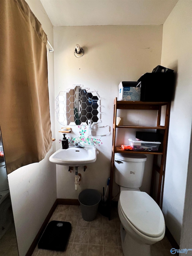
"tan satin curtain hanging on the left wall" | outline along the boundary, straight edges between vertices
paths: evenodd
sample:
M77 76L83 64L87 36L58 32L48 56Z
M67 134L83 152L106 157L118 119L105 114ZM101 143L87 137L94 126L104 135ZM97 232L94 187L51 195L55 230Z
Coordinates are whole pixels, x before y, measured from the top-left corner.
M47 37L24 0L0 0L0 126L7 173L52 145Z

